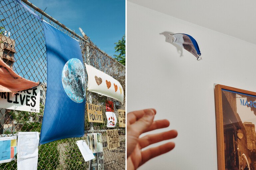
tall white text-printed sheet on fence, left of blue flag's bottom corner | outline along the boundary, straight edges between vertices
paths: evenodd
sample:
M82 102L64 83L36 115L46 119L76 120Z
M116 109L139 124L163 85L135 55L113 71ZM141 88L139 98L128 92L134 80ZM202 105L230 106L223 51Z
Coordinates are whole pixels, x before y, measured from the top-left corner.
M18 170L36 170L38 161L38 132L18 133Z

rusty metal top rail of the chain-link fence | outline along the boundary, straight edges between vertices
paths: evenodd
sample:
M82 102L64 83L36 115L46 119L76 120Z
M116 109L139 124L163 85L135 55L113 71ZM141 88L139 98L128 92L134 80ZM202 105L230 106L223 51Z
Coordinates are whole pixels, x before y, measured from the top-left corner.
M95 48L96 50L98 50L100 53L102 53L103 55L105 55L106 57L110 58L111 60L115 61L119 66L125 68L124 65L122 65L121 63L117 62L113 57L109 56L107 53L105 53L104 51L102 51L101 49L99 49L99 47L97 47L94 43L92 43L91 41L87 41L85 40L83 37L81 37L80 35L78 35L77 33L75 33L75 31L72 31L71 29L69 29L68 27L66 27L64 24L60 23L59 21L57 21L56 19L54 19L52 16L48 15L47 13L45 13L44 11L42 11L40 8L38 8L37 6L35 6L34 4L32 4L31 2L29 2L28 0L21 0L22 2L24 2L25 4L27 4L28 6L30 6L31 8L33 8L34 10L36 10L37 12L39 12L40 14L42 14L43 16L45 16L46 18L50 19L51 21L53 21L54 23L56 23L57 25L59 25L60 27L64 28L65 30L67 30L68 32L70 32L71 34L75 35L76 37L78 37L79 39L83 40L86 43L89 43L93 48Z

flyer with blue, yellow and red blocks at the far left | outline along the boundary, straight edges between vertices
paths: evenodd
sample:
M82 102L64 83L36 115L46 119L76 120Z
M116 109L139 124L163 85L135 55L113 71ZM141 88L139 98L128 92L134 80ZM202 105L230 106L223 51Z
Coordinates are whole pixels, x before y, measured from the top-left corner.
M17 136L0 137L0 163L11 162L17 154Z

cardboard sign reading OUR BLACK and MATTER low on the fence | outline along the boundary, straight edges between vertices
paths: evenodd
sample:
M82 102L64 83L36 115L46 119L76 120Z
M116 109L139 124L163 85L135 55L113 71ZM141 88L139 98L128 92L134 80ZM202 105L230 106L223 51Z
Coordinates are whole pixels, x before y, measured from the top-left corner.
M118 130L107 130L108 149L113 150L120 147Z

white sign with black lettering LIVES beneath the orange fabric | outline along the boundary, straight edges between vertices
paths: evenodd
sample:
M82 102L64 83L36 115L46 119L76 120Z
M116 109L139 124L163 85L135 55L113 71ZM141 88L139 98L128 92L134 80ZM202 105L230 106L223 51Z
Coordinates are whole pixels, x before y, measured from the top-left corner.
M39 113L40 88L20 91L12 95L10 92L0 92L0 108Z

